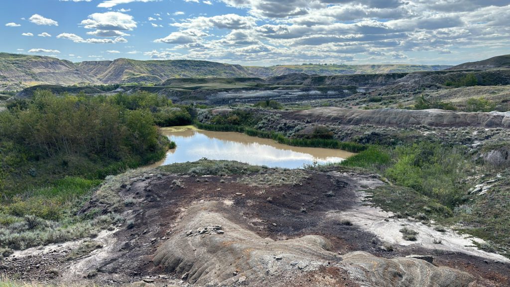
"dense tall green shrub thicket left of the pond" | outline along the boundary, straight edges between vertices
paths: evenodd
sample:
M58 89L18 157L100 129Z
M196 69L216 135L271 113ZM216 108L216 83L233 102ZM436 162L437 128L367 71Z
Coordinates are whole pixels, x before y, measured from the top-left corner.
M153 97L148 93L132 97L119 103L119 97L57 97L38 91L33 100L8 105L0 113L3 194L15 195L65 175L101 179L162 158L168 140L160 136L154 119L162 104L149 101ZM137 105L128 105L133 102Z

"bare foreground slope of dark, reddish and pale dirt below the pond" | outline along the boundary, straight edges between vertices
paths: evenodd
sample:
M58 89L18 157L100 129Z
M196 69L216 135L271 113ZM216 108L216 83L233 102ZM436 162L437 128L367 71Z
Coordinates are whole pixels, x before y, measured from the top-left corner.
M81 241L33 248L8 257L2 268L25 280L132 286L510 282L508 261L481 251L469 255L462 246L446 245L438 252L422 245L424 238L418 244L394 242L392 251L382 247L384 232L373 233L365 227L370 222L352 217L366 204L361 191L381 184L376 175L347 171L145 171L109 192L99 189L82 210L116 210L127 219L92 238L101 247L74 259L66 256ZM390 221L390 215L377 220ZM433 264L405 257L412 254L433 256Z

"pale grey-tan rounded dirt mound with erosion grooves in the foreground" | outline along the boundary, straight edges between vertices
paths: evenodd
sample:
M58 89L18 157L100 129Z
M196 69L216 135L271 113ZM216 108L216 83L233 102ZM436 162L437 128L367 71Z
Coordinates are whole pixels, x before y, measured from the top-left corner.
M386 259L366 252L340 256L319 235L282 241L262 238L214 212L217 204L223 203L188 210L179 229L156 252L155 264L197 285L287 285L292 277L321 267L344 269L354 282L374 287L467 286L475 280L465 272L416 258Z

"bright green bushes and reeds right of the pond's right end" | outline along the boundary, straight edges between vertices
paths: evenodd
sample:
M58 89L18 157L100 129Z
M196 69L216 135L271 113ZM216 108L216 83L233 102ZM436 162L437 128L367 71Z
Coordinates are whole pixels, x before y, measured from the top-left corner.
M473 168L463 150L422 142L387 149L372 147L341 163L380 173L397 185L453 208L461 204L466 186L460 182Z

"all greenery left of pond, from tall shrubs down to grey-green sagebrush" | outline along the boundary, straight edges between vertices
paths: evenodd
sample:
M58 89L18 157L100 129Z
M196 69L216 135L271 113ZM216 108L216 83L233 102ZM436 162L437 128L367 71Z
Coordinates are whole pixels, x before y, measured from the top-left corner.
M0 113L0 247L10 249L94 236L124 222L113 212L76 214L106 176L175 147L156 124L191 121L186 107L147 92L58 97L38 90L7 108ZM112 184L101 185L103 195Z

